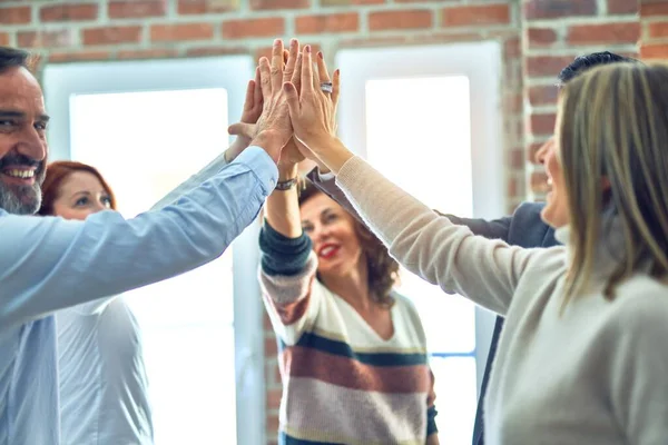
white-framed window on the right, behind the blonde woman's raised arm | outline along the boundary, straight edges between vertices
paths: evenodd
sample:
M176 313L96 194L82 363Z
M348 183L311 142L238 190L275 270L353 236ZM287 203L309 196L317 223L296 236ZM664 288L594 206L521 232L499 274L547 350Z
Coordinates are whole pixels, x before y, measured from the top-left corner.
M432 208L498 217L499 60L495 43L341 51L341 137ZM428 335L440 439L466 443L493 316L406 270L401 276L397 290L415 303Z

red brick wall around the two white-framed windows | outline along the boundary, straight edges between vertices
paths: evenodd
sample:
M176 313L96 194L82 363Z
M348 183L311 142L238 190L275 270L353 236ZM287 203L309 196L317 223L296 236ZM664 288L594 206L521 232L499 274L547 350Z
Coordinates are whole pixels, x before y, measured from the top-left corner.
M552 132L554 76L577 55L610 49L668 57L668 0L0 0L0 44L43 62L267 55L293 36L325 51L498 40L509 211L540 197L533 152ZM345 80L345 73L344 80ZM267 437L281 398L276 344L265 320Z

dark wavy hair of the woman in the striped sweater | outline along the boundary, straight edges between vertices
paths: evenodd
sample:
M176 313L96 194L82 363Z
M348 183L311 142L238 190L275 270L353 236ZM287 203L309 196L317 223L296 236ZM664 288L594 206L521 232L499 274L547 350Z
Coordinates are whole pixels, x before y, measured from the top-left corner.
M310 180L305 180L299 191L299 207L321 190ZM354 219L355 234L360 238L362 251L366 257L369 268L369 289L372 298L383 305L392 306L394 298L390 295L399 279L399 263L390 256L387 248L357 219Z

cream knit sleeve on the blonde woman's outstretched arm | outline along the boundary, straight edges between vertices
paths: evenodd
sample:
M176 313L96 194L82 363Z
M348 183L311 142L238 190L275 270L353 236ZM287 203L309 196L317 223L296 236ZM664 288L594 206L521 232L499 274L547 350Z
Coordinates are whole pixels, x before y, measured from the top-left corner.
M505 314L522 273L540 255L453 225L358 157L342 167L336 184L405 268L498 314Z

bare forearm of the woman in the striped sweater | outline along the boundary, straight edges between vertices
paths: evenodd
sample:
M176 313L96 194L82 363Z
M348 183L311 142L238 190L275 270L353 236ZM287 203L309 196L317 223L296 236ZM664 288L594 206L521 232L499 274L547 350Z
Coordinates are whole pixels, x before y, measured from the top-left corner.
M279 166L278 181L297 176L297 166ZM265 218L269 226L286 238L298 238L302 235L297 187L288 190L274 190L265 204Z

